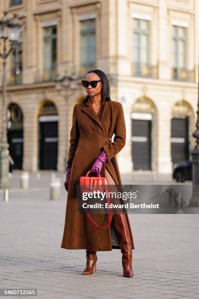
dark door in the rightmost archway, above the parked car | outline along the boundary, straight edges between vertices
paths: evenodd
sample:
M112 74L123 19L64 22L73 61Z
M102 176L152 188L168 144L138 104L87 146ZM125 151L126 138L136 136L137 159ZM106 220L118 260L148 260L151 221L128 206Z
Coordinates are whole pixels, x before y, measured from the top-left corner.
M189 118L171 120L171 157L172 163L189 159Z

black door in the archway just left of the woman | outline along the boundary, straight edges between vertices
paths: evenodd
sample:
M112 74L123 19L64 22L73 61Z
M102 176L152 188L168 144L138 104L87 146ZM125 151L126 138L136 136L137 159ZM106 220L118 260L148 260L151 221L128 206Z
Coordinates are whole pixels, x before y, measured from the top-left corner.
M58 122L40 121L40 170L57 170L57 156Z

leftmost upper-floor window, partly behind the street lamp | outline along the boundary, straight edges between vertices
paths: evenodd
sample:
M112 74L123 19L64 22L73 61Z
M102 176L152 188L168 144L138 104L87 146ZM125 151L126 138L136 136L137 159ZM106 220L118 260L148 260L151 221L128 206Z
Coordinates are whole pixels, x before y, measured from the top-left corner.
M22 31L20 32L20 39L15 43L15 46L10 55L10 78L9 85L22 84Z

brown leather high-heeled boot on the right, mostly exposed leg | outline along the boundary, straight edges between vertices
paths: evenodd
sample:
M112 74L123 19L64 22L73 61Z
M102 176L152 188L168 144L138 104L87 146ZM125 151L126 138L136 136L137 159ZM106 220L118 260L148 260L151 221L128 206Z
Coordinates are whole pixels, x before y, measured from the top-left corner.
M119 246L121 247L123 276L131 278L133 277L132 243L126 214L114 214L113 224Z

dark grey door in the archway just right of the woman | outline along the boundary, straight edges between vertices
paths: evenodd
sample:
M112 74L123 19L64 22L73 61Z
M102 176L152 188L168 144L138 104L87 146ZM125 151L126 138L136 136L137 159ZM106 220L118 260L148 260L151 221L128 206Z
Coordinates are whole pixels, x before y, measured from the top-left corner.
M151 170L151 120L132 119L134 170Z

